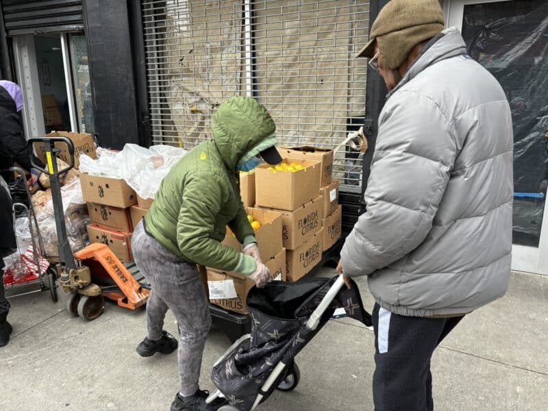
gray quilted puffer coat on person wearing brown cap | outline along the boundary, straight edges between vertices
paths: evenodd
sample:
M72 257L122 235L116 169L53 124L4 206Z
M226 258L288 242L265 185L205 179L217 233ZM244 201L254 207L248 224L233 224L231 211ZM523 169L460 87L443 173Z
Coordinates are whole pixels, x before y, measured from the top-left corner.
M379 116L366 212L341 260L395 314L471 312L506 292L512 252L512 118L506 96L447 29Z

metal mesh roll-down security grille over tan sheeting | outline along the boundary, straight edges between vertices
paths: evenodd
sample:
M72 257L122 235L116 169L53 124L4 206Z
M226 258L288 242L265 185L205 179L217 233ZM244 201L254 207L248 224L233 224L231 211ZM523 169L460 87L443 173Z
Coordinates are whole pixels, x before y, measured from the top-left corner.
M154 143L190 149L209 138L234 95L263 103L286 146L334 148L365 110L369 1L142 0ZM359 191L362 160L336 155L343 190Z

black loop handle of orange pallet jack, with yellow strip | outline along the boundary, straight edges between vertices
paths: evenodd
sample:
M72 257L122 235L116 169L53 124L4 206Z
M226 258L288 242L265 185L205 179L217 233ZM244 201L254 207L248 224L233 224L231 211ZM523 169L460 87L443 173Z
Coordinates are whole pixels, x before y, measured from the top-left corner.
M43 169L41 166L38 166L38 164L34 162L33 149L35 142L44 144L47 170ZM57 154L61 151L61 149L55 147L56 142L64 142L69 151L69 165L62 170L59 170L57 167ZM66 266L69 269L77 269L77 265L73 257L73 251L69 243L69 238L66 235L63 199L61 196L61 183L59 181L59 176L62 173L66 173L74 167L73 142L66 137L32 137L27 141L27 148L29 149L30 162L32 166L49 177L51 200L53 201L53 213L55 214L55 228L57 229L59 261L62 266Z

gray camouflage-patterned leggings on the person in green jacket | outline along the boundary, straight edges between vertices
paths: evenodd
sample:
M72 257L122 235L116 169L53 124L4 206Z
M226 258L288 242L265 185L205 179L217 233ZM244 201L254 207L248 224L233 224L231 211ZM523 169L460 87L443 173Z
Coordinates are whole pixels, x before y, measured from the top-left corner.
M208 297L195 264L182 261L138 223L132 237L135 262L151 284L147 303L147 338L158 340L166 312L171 309L179 325L179 377L182 395L199 388L203 347L211 326Z

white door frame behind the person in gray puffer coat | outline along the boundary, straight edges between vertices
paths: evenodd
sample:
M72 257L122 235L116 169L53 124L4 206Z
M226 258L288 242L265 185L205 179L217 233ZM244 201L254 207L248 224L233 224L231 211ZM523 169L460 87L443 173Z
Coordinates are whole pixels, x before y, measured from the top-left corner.
M512 0L444 0L443 12L447 27L462 29L464 5L501 3ZM545 193L546 195L547 193ZM546 198L546 197L545 197ZM512 270L548 275L548 201L545 201L543 224L538 248L512 244Z

